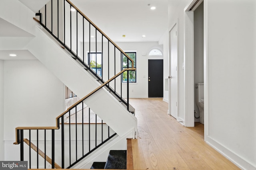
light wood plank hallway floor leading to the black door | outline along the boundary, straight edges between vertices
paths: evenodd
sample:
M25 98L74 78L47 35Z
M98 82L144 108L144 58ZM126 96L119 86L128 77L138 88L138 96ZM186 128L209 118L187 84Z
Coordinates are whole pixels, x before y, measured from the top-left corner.
M132 140L134 169L238 170L204 142L204 125L183 127L167 114L162 99L130 99L138 119L138 139Z

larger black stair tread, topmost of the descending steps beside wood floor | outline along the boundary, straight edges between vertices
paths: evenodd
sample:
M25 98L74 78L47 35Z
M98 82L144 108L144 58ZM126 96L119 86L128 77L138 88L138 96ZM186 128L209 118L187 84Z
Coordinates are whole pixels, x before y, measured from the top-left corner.
M104 169L126 169L126 150L110 150Z

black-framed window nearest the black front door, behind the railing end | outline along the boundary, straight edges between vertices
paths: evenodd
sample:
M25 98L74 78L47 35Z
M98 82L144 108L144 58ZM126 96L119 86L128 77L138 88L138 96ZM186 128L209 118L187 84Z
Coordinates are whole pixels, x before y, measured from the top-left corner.
M126 52L126 54L134 61L133 67L136 68L136 52ZM128 63L127 63L128 61ZM122 55L123 69L132 68L132 62L128 60L128 57ZM127 67L128 64L128 67ZM127 82L127 71L122 74L122 82ZM136 70L129 71L129 82L136 82Z

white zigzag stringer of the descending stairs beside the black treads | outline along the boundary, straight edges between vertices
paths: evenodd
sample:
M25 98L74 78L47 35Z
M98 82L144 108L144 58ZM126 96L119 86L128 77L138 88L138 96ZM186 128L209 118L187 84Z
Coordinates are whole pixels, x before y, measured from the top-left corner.
M118 136L109 143L104 144L102 147L94 151L89 156L72 166L72 169L90 169L93 162L106 162L110 150L126 150L127 138L132 135L133 129L123 136Z

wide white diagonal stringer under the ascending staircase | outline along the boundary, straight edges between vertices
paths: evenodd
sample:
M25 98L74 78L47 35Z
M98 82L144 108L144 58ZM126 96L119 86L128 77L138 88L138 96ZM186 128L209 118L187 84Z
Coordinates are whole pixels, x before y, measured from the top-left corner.
M25 46L48 70L60 79L79 98L83 98L98 86L95 80L80 64L66 53L41 28L35 27L35 37ZM122 106L106 89L102 88L85 100L89 106L119 136L130 132L134 138L137 119Z

